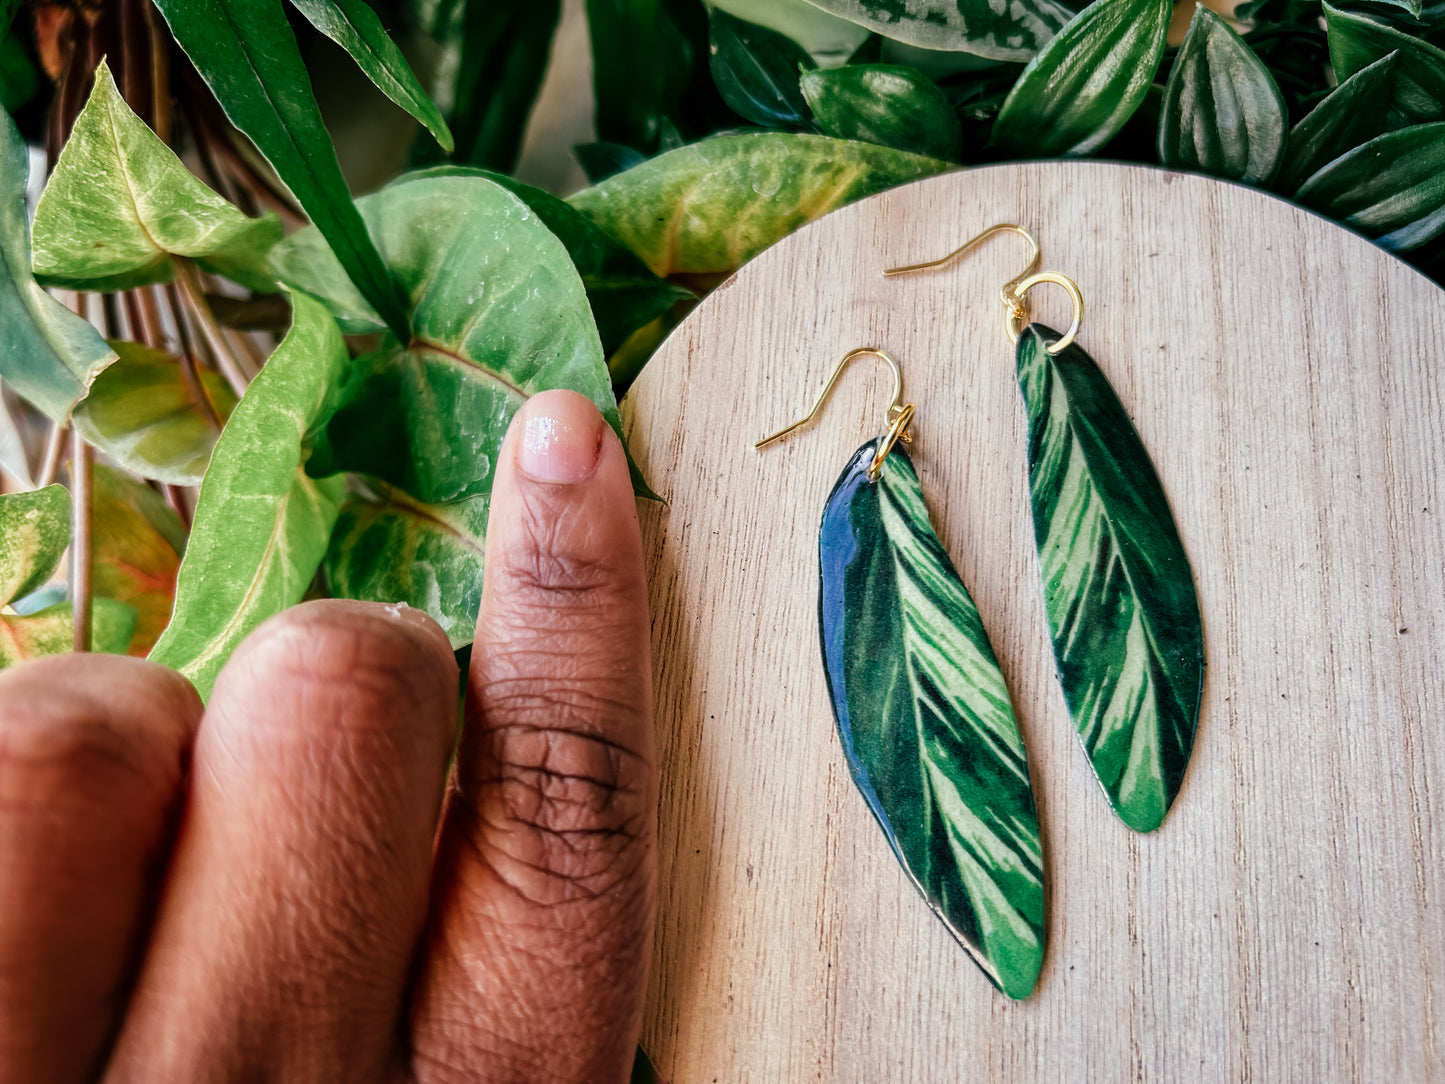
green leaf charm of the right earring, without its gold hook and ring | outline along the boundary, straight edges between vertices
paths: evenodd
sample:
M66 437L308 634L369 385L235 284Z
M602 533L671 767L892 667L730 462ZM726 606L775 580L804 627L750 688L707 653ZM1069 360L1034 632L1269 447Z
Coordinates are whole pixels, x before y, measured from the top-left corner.
M1043 608L1064 700L1120 820L1153 831L1179 792L1204 684L1189 558L1118 396L1042 324L1019 337Z

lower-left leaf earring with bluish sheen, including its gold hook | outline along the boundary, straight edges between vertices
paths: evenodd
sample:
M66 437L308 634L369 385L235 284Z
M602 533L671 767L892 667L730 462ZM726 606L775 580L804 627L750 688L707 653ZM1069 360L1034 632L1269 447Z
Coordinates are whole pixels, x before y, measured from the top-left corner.
M1043 965L1043 856L1029 760L978 608L944 549L902 448L913 421L893 370L887 432L848 460L818 532L818 621L842 752L929 908L1010 997Z

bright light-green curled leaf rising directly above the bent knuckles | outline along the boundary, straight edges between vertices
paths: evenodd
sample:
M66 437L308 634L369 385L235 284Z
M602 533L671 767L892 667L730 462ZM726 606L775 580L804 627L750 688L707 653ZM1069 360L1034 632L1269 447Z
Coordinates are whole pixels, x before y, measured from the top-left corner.
M335 321L292 295L292 325L211 455L176 582L175 616L150 652L202 697L246 636L301 601L327 552L344 483L306 474L308 444L347 369Z

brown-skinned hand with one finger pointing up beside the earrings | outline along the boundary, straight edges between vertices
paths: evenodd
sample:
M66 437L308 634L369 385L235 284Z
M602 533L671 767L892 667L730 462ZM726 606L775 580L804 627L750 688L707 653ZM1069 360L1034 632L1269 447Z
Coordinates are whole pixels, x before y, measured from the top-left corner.
M499 457L454 770L416 611L289 610L204 710L137 659L0 675L0 1081L626 1080L647 643L621 445L548 392Z

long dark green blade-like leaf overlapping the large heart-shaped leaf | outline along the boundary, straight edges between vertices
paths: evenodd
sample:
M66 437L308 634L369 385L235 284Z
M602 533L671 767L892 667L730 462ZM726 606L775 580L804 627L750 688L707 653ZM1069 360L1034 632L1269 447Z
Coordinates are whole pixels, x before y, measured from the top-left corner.
M225 116L256 145L393 334L405 296L367 236L337 163L280 0L156 0Z

